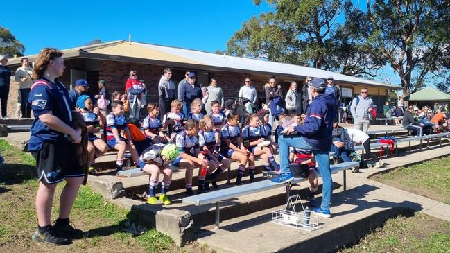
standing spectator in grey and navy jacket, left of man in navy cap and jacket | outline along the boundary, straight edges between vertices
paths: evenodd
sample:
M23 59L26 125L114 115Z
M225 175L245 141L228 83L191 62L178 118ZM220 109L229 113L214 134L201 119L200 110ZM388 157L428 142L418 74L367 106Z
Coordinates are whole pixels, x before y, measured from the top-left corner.
M162 116L167 112L167 108L171 107L171 101L175 99L175 84L171 78L172 70L165 68L158 84L159 119L162 119Z

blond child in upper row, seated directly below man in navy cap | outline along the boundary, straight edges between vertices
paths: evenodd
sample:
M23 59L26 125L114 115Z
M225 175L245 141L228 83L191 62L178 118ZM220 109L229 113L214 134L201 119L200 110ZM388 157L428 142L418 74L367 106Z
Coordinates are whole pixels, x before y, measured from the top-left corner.
M171 111L166 113L162 119L162 129L168 130L166 139L168 142L173 142L175 140L175 135L178 132L182 132L184 114L181 112L182 103L178 100L174 100L171 103Z

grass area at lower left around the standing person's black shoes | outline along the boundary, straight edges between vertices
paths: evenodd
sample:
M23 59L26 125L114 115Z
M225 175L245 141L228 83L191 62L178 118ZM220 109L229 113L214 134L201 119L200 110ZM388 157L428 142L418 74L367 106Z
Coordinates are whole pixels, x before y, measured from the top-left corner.
M37 225L35 194L39 185L35 160L1 139L0 150L6 159L0 168L0 252L179 252L170 237L153 228L136 237L122 232L126 220L139 221L89 186L81 186L71 213L76 227L85 231L84 238L60 247L31 241ZM55 194L53 220L58 217L63 187L63 183L58 185Z

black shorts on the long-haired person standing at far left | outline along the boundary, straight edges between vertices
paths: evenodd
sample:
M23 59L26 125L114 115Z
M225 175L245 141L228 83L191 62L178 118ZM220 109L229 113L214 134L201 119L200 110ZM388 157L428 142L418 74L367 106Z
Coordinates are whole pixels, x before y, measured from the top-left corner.
M78 166L75 146L72 143L43 143L42 148L31 152L36 159L39 180L55 184L66 177L84 177L85 171Z

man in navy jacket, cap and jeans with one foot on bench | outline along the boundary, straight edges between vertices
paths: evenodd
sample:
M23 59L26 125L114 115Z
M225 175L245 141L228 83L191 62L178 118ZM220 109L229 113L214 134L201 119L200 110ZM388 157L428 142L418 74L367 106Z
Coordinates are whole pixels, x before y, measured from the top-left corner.
M283 184L291 182L294 178L289 169L289 147L312 150L323 182L322 205L314 208L313 212L324 218L329 218L331 217L329 203L333 187L329 164L329 147L333 140L336 98L332 93L325 94L326 86L321 78L312 80L309 89L313 94L313 102L306 111L304 124L286 128L284 134L278 138L281 175L272 179L272 182ZM289 135L294 131L298 134Z

